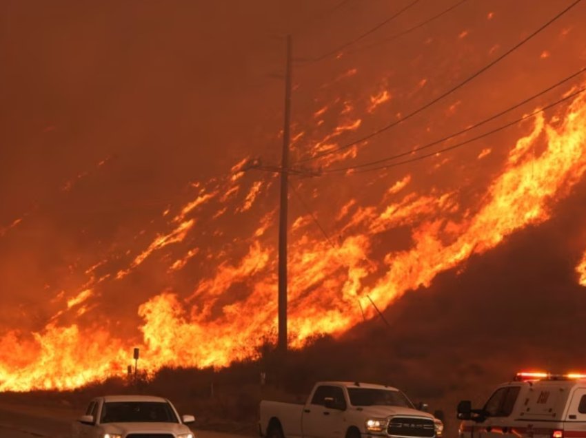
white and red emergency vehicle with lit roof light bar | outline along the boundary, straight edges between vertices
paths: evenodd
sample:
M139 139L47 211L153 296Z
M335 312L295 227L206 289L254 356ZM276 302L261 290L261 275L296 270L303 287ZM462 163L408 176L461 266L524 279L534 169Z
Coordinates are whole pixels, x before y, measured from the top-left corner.
M586 438L586 374L517 373L481 409L458 404L460 438Z

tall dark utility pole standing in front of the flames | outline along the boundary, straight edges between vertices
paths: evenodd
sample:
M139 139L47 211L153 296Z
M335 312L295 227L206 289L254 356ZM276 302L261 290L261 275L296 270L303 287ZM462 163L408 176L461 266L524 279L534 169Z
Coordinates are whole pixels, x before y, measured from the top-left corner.
M281 159L281 208L279 209L279 342L277 348L281 353L287 351L287 183L291 125L292 45L291 35L287 35L285 122L283 125L283 158Z

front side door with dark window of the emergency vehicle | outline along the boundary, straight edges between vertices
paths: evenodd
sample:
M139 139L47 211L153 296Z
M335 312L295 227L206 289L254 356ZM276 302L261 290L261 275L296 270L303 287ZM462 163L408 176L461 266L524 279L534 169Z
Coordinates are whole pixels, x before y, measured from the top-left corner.
M514 437L512 413L520 391L520 386L504 386L494 392L484 406L485 420L478 423L479 438Z

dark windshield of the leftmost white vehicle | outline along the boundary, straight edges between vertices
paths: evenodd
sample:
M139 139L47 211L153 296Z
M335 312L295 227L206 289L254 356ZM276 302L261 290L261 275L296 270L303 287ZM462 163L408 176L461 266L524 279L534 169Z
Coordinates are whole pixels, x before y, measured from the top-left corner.
M164 401L107 401L101 423L179 423L174 410Z

